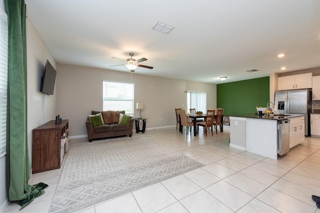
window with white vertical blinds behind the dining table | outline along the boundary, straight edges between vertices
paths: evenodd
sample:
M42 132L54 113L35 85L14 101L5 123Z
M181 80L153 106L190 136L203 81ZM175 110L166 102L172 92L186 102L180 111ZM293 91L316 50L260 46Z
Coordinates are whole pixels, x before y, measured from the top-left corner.
M206 113L206 92L187 91L187 111L195 108L196 111Z

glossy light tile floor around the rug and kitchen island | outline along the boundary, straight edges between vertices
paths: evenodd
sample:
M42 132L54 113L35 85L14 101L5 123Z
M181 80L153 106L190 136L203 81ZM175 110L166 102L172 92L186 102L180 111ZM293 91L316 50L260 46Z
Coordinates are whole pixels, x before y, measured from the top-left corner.
M228 126L224 126L224 133L208 137L202 132L196 137L186 136L185 129L183 133L166 128L144 134L199 161L204 167L80 212L320 213L311 200L311 195L320 196L319 138L305 138L289 153L273 160L229 148ZM86 139L73 139L72 143L83 140ZM10 203L5 212L46 213L61 170L33 174L29 184L47 183L45 194L21 211L15 203Z

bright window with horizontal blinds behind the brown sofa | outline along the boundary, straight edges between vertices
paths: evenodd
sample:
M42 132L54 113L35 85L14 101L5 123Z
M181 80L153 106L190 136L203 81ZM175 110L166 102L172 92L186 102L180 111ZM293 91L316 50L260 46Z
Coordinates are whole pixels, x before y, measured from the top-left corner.
M102 110L125 110L125 114L134 113L134 84L103 81Z

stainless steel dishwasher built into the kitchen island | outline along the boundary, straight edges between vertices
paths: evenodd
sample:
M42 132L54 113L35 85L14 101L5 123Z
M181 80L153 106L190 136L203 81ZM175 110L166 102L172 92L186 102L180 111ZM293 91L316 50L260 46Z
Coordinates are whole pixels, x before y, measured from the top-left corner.
M290 120L278 120L278 154L284 155L289 151L290 141Z

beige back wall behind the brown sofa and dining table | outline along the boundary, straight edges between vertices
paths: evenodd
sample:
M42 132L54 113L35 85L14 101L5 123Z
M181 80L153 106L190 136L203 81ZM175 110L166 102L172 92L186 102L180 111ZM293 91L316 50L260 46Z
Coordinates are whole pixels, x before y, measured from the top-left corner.
M102 80L130 82L130 72L57 64L57 113L69 119L69 135L86 135L91 110L102 110ZM144 103L146 128L175 126L174 108L186 109L185 90L207 92L207 108L216 108L216 85L132 74L134 102ZM182 107L183 105L183 107ZM138 110L135 109L138 115Z

